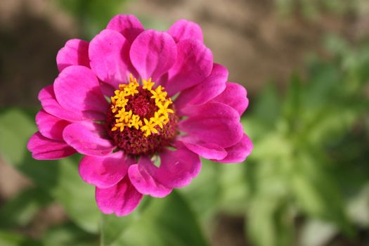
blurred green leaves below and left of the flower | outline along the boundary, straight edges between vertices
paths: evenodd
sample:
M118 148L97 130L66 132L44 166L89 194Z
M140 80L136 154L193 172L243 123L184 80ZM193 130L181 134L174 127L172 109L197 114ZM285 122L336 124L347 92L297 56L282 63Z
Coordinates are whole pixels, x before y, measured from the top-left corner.
M1 112L1 157L29 177L36 188L25 190L0 207L0 230L4 229L0 231L0 242L4 240L0 245L28 243L28 238L11 231L29 226L37 212L51 202L60 203L71 221L50 228L41 242L31 245L98 245L99 225L103 245L207 245L195 214L175 192L165 200L147 198L136 212L124 218L102 216L93 187L79 178L80 157L33 160L25 145L34 131L37 129L29 113L18 109Z

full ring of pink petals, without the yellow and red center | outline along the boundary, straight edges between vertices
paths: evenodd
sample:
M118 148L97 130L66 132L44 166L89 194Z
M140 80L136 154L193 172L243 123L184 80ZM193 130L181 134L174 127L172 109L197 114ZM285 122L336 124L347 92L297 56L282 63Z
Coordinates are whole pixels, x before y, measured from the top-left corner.
M45 105L45 111L37 115L42 135L34 134L28 144L35 158L58 159L76 150L87 155L79 173L97 186L98 207L122 216L138 205L142 194L164 197L190 183L200 171L198 155L239 162L250 154L250 139L242 135L240 124L234 124L247 108L246 91L237 84L226 85L228 71L220 65L213 67L212 53L202 44L197 24L179 20L169 35L143 32L134 15L117 15L107 28L90 44L72 39L58 53L60 75L39 96ZM107 110L98 79L116 88L129 73L136 76L135 69L143 79L167 77L170 96L183 91L176 104L182 103L179 108L189 116L179 124L188 136L177 143L177 150L164 150L160 167L147 157L134 164L122 151L111 154L114 146L101 134L102 126L80 122L103 119ZM186 108L188 104L192 106Z

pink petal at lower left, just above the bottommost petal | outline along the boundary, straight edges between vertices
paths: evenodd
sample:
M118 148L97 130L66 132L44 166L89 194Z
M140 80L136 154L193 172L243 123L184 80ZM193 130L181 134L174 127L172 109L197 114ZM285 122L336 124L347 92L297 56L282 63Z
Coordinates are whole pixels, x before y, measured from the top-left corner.
M99 188L114 186L126 176L134 160L117 151L103 157L86 155L79 162L79 175L86 183Z

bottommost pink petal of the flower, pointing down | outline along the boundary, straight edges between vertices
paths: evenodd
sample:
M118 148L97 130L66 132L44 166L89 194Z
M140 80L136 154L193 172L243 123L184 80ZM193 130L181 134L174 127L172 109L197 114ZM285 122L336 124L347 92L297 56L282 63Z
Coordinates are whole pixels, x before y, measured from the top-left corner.
M96 187L96 203L104 214L125 216L134 211L143 195L129 181L128 176L110 188Z

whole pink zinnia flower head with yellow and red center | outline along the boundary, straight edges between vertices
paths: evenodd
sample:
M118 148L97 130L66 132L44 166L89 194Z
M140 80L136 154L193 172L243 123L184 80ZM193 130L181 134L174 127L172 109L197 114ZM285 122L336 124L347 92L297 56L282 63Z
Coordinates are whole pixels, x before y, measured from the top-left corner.
M96 186L103 213L124 216L143 195L188 185L200 157L250 155L240 124L247 92L227 82L194 22L160 32L117 15L90 42L67 41L56 61L60 74L39 92L39 131L27 147L37 160L83 154L79 174Z

